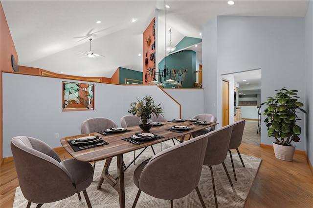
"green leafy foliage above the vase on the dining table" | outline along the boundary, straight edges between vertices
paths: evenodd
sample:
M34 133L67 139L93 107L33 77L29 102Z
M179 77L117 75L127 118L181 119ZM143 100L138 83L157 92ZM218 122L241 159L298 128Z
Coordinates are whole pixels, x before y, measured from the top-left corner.
M128 110L128 113L141 117L145 121L150 119L152 114L157 118L159 114L164 113L160 107L161 104L155 105L155 101L151 95L146 95L142 100L137 98L137 102L132 102L130 106L131 108Z

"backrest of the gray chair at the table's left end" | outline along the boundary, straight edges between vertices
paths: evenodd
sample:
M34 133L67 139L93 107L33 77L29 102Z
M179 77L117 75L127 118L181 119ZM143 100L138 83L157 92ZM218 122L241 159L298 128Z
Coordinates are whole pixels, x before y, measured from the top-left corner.
M28 201L55 202L76 192L74 180L60 157L43 141L17 136L11 140L11 150L19 184Z

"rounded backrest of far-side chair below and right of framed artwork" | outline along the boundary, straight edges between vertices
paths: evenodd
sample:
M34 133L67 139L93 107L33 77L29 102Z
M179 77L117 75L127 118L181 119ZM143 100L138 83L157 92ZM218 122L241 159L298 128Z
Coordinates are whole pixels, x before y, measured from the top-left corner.
M80 126L81 133L105 131L106 129L118 127L110 118L89 118Z

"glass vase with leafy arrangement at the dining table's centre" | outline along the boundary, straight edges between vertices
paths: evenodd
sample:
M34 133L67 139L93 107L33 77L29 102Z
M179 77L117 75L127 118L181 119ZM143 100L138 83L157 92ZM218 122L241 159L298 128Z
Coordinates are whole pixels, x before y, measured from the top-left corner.
M140 117L139 127L143 131L149 131L152 127L151 115L157 116L163 113L163 109L160 107L161 104L155 105L155 101L149 96L145 96L143 100L137 98L137 102L132 102L130 104L131 108L128 110L128 113L132 113Z

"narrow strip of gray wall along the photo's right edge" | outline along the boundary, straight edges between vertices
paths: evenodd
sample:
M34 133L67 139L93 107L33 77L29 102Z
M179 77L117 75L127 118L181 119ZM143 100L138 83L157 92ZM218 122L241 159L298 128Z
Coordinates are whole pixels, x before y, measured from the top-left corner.
M308 157L313 163L313 1L309 1L307 14L304 19L305 33L305 110L308 112L306 115L306 151Z

